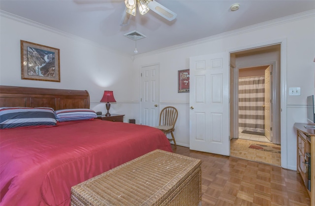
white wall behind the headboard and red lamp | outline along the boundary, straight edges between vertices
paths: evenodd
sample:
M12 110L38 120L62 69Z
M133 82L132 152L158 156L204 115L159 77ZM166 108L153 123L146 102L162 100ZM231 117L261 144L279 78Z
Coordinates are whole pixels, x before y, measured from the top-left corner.
M126 114L124 121L138 118L132 101L132 60L96 44L18 17L0 16L0 84L12 86L88 90L91 108L105 112L99 103L104 90L113 90L117 103L110 113ZM60 49L61 82L21 79L20 40Z

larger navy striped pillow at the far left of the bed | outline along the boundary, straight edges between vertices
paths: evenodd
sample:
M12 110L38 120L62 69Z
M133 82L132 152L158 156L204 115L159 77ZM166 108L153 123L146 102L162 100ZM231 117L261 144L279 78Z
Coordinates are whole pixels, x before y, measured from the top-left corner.
M39 125L55 126L54 109L48 107L0 107L0 129Z

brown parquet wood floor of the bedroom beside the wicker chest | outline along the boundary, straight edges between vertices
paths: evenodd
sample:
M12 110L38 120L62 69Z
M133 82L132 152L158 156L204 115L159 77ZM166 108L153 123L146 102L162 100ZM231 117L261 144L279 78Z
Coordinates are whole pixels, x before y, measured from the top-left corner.
M174 153L201 159L202 206L309 206L296 171L172 145Z

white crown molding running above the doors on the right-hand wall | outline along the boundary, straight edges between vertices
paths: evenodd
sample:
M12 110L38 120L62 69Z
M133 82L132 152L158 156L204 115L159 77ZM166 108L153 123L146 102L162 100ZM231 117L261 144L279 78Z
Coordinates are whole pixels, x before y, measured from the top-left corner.
M282 17L282 18L279 18L279 19L274 19L274 20L271 20L271 21L255 24L255 25L252 25L252 26L246 26L246 27L243 27L243 28L227 31L227 32L224 32L224 33L220 33L220 34L209 36L209 37L206 37L206 38L202 38L202 39L186 42L186 43L183 43L183 44L178 44L178 45L174 45L174 46L171 46L171 47L162 48L162 49L155 50L155 51L152 51L152 52L146 52L146 53L137 54L137 55L134 55L134 59L137 58L137 57L157 54L157 53L160 53L160 52L173 51L173 50L176 50L176 49L186 48L186 47L189 47L189 46L192 46L192 45L196 45L196 44L203 44L203 43L207 43L207 42L211 42L211 41L220 40L220 39L224 39L224 38L227 38L227 37L235 36L235 35L238 35L238 34L251 32L251 31L254 31L254 30L257 30L257 29L262 29L262 28L267 28L267 27L271 27L271 26L282 25L282 24L285 24L285 23L298 21L298 20L302 20L302 19L307 19L307 18L312 18L312 17L315 17L315 9L310 10L310 11L306 11L306 12L302 12L302 13L298 13L298 14L294 14L294 15L290 15L290 16L286 16L286 17Z

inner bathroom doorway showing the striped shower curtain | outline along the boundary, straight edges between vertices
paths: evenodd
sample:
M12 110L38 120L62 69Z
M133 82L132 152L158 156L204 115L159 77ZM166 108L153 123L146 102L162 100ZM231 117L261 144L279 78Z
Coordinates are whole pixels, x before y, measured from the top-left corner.
M272 65L238 71L238 125L240 139L272 142L270 133L270 71Z

